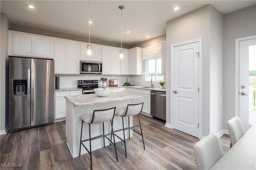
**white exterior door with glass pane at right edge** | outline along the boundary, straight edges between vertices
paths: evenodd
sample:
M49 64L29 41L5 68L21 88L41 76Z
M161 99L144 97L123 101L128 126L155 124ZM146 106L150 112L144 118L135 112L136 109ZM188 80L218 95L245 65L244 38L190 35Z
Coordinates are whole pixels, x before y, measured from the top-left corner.
M255 124L256 39L239 41L239 117L244 130Z

